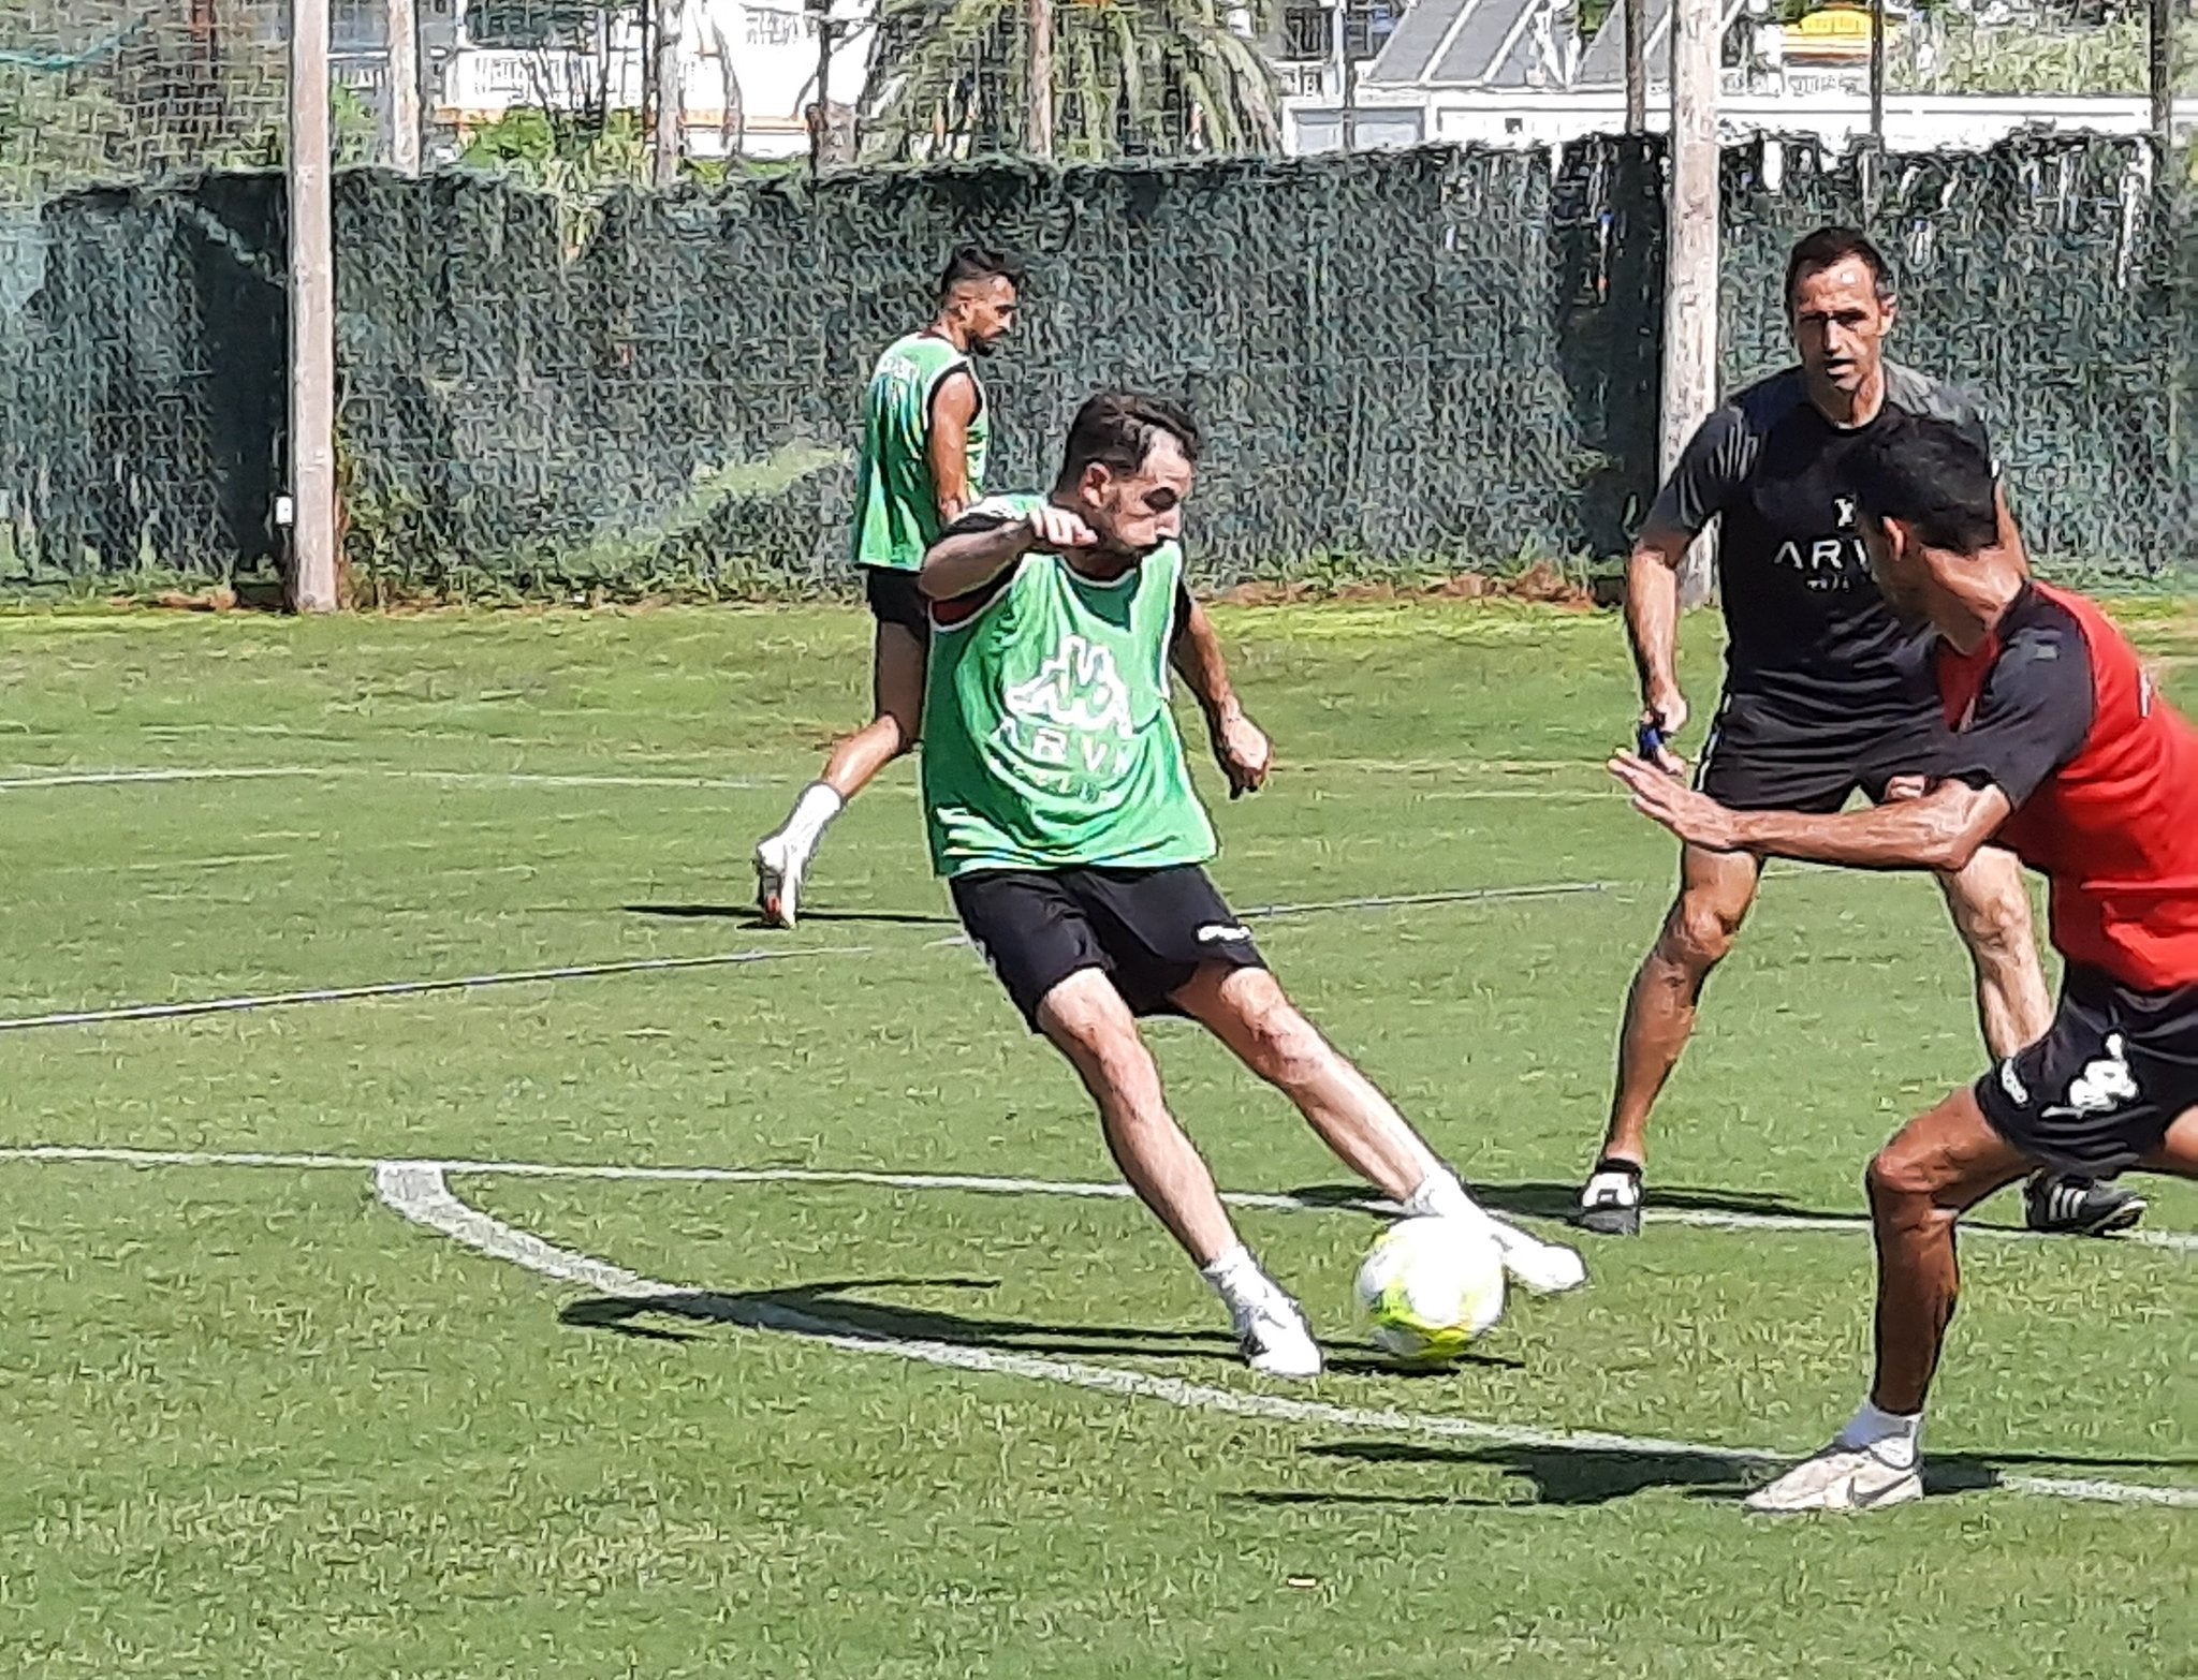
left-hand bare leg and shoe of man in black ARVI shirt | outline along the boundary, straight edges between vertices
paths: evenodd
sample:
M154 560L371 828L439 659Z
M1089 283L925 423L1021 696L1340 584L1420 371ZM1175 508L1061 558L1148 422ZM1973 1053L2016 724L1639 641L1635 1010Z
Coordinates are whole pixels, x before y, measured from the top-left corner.
M1640 1232L1640 1177L1648 1162L1648 1111L1695 1032L1710 971L1732 951L1756 900L1763 863L1743 852L1679 852L1679 896L1627 993L1618 1032L1618 1089L1576 1221L1607 1236Z

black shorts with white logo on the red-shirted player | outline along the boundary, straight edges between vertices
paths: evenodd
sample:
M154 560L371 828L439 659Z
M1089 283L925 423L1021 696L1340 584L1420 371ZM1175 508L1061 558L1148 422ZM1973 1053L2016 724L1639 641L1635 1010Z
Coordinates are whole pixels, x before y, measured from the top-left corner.
M2198 986L2141 993L2068 964L2046 1037L1976 1080L1976 1100L2024 1155L2114 1177L2198 1109Z

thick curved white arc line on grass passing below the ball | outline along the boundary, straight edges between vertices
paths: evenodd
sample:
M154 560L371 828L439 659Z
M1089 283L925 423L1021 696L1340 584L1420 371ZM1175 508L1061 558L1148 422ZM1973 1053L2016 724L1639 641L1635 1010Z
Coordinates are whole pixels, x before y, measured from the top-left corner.
M954 1342L923 1342L914 1337L892 1337L884 1333L848 1333L844 1324L829 1318L811 1318L765 1300L736 1300L708 1291L659 1283L637 1272L607 1261L556 1247L534 1232L508 1225L479 1208L459 1201L448 1186L446 1173L433 1162L382 1162L374 1171L374 1190L385 1206L431 1232L464 1243L479 1254L510 1261L543 1278L580 1285L604 1296L648 1300L679 1296L681 1309L723 1320L754 1331L778 1331L800 1335L842 1353L884 1355L888 1359L910 1359L950 1370L974 1370L983 1375L1026 1377L1031 1381L1084 1388L1097 1395L1123 1399L1152 1399L1194 1412L1222 1412L1270 1423L1317 1423L1332 1430L1354 1430L1361 1434L1405 1434L1435 1441L1492 1441L1508 1447L1534 1447L1543 1452L1602 1452L1633 1456L1690 1456L1732 1465L1734 1469L1763 1469L1791 1458L1767 1447L1710 1447L1690 1441L1657 1441L1653 1436L1591 1434L1523 1430L1506 1423L1481 1423L1462 1416L1435 1416L1427 1412L1372 1410L1361 1405L1328 1405L1321 1401L1295 1401L1279 1395L1235 1392L1187 1384L1178 1377L1156 1377L1143 1370L1114 1366L1090 1366L1077 1359L1051 1359L1007 1348L965 1346ZM2134 1487L2103 1480L2062 1480L2055 1476L2002 1476L2000 1487L2018 1493L2040 1493L2060 1500L2092 1500L2106 1504L2154 1504L2198 1509L2198 1489L2185 1487Z

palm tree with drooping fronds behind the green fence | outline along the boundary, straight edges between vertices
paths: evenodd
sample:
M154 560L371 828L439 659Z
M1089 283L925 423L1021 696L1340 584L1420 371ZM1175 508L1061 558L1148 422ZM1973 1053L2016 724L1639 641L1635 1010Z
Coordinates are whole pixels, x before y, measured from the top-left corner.
M1053 145L1103 160L1255 152L1279 138L1275 72L1253 44L1275 0L1062 0ZM864 152L1029 152L1026 0L884 0L864 88Z

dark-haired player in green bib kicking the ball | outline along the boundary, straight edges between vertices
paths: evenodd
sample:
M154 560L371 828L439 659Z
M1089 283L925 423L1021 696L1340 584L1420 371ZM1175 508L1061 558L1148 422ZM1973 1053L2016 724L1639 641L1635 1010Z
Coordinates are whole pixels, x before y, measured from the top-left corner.
M1200 867L1213 826L1167 707L1169 665L1207 716L1231 797L1268 742L1183 580L1198 430L1106 391L1077 413L1051 496L996 496L925 556L932 659L923 815L932 863L1007 995L1075 1065L1123 1177L1198 1263L1255 1370L1312 1377L1297 1302L1237 1239L1161 1094L1141 1015L1187 1015L1288 1096L1407 1214L1488 1232L1530 1289L1580 1256L1490 1219L1389 1100L1297 1012Z

